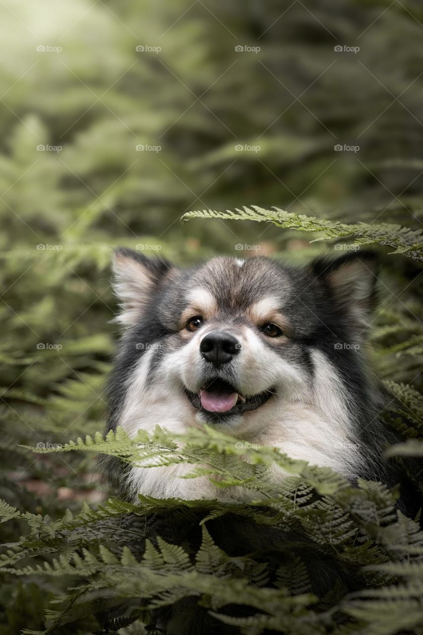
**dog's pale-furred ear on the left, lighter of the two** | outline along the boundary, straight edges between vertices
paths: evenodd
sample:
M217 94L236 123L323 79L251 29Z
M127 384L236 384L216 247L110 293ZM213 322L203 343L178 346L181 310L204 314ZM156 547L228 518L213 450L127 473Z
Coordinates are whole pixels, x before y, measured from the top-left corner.
M154 288L175 268L161 258L147 258L138 251L120 247L114 252L113 288L121 312L116 321L136 324L151 299Z

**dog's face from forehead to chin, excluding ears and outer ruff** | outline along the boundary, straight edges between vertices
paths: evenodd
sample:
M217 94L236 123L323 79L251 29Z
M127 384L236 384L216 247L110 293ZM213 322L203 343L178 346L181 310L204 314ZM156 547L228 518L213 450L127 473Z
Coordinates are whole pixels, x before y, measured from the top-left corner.
M187 282L160 309L173 331L170 357L198 420L251 425L253 412L277 391L305 388L307 352L292 345L284 311L293 290L287 274L271 260L215 258ZM166 311L175 305L176 312Z

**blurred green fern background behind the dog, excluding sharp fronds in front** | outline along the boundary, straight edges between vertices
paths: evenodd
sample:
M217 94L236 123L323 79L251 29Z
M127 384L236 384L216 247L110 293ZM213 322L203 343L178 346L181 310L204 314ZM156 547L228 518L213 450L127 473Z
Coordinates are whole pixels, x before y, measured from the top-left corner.
M114 246L178 264L343 253L271 224L180 222L251 204L422 227L422 38L417 0L0 4L2 497L57 516L107 494L89 458L17 445L104 425ZM375 372L418 387L421 267L381 251ZM7 587L12 632L26 588Z

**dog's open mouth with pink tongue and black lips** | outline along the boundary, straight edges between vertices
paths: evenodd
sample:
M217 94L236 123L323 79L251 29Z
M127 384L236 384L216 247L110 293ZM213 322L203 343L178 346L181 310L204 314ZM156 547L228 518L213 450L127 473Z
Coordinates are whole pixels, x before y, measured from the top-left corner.
M274 394L273 389L260 392L252 397L241 395L234 386L217 378L208 382L198 394L185 389L189 401L194 408L205 410L216 415L242 413L246 410L257 410Z

